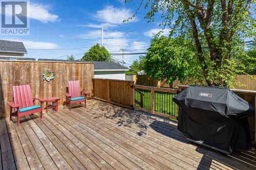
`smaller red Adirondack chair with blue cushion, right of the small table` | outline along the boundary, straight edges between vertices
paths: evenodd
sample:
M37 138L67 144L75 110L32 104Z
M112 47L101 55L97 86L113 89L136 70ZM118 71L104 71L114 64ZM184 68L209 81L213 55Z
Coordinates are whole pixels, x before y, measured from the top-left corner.
M75 103L81 103L84 102L84 107L86 107L86 98L89 94L85 91L80 91L79 89L79 81L69 81L69 92L66 93L66 105L69 104L69 110L71 110L71 105ZM85 96L82 96L82 93L85 94Z

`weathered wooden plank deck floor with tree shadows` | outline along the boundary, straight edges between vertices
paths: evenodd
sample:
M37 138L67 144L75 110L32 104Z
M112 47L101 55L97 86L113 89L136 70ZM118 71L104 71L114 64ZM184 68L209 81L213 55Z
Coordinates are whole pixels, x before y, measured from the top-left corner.
M177 124L89 100L87 108L0 119L0 169L255 169L256 154L188 143Z

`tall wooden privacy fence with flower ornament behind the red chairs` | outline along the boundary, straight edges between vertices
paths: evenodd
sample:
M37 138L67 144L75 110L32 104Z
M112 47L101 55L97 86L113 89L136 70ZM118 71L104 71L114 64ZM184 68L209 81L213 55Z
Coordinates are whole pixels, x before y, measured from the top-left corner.
M42 73L47 70L54 72L50 82L42 80ZM92 93L93 77L93 63L0 61L0 118L10 114L8 103L13 101L13 85L30 84L33 97L58 97L59 103L64 104L69 80L79 80L80 89Z

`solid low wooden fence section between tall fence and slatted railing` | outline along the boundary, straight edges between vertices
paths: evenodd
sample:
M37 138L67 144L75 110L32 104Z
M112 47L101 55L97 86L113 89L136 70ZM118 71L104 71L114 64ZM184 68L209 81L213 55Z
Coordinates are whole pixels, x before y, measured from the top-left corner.
M133 81L93 79L93 98L126 108L133 108Z

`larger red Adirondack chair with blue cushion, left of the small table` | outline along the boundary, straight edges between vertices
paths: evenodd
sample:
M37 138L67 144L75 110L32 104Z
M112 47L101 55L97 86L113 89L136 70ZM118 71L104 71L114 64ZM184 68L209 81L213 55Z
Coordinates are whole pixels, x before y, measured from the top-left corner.
M10 120L12 120L12 116L17 116L17 123L19 126L20 117L36 112L41 113L42 119L42 104L44 103L44 99L32 98L31 88L29 84L13 86L12 89L14 102L9 102L9 106L11 107ZM35 105L35 100L40 101L40 106ZM12 112L12 108L14 109L14 112Z

